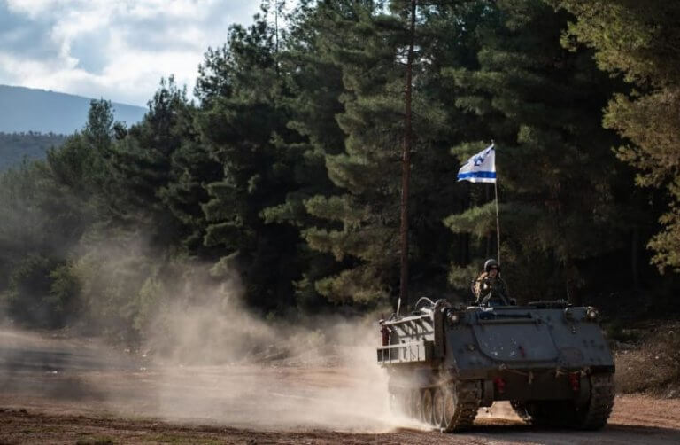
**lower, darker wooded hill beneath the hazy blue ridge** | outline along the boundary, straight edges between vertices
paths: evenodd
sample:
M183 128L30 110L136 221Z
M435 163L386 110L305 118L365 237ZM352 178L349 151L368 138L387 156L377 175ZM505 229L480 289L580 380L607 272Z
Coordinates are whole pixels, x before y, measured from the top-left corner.
M43 159L51 147L64 144L66 136L48 133L0 132L0 172L18 166L23 160Z

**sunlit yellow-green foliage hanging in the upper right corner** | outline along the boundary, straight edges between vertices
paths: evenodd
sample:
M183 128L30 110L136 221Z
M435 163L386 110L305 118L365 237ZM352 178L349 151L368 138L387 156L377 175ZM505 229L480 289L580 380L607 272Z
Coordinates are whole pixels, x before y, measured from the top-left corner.
M661 271L680 271L680 169L673 161L680 158L680 122L676 119L680 111L680 48L676 44L680 4L661 0L548 3L576 16L563 36L566 46L590 46L602 69L623 74L635 87L614 95L607 106L605 126L630 142L618 149L618 155L638 168L638 184L667 191L668 212L661 216L662 229L648 246Z

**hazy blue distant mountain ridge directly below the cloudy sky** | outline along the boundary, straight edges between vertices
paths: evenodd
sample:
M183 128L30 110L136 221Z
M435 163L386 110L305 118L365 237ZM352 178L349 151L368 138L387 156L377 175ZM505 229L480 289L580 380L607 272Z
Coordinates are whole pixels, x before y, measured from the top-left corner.
M54 91L0 85L0 132L69 135L88 119L90 98ZM146 108L113 103L116 121L142 120Z

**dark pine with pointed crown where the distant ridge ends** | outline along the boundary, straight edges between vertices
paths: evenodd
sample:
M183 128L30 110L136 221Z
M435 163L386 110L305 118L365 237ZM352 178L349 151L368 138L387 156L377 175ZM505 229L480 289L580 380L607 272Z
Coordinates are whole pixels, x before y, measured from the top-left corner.
M109 162L117 223L145 230L156 246L200 247L207 193L201 181L217 177L194 128L195 106L174 77L161 80L143 121L124 132Z

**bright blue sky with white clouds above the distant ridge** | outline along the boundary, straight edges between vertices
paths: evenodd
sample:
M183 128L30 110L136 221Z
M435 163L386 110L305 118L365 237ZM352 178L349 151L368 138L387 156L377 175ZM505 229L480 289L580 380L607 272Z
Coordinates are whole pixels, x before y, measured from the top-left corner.
M208 46L259 0L0 0L0 84L145 105L161 77L193 89Z

